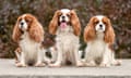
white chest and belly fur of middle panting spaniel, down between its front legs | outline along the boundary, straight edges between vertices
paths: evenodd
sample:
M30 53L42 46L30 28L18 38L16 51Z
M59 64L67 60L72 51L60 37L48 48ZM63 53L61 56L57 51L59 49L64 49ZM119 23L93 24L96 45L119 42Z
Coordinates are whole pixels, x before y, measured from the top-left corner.
M79 49L79 37L73 34L72 26L68 26L63 30L58 28L56 41L58 48L62 50L62 63L71 62L74 64L74 52Z

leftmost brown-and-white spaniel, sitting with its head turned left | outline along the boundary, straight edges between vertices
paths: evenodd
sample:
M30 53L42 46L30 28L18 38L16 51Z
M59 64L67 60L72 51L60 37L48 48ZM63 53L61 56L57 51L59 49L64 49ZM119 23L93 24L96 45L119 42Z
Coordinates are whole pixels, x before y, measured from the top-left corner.
M12 38L19 43L15 50L16 66L45 66L43 63L44 29L38 20L32 14L23 14L17 18Z

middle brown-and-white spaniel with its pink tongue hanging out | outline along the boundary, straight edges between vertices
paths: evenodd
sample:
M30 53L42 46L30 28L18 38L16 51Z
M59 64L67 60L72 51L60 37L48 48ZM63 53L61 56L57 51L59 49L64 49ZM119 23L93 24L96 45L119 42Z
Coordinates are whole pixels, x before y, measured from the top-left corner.
M49 32L56 35L56 48L53 55L57 55L56 62L49 66L59 67L71 63L81 66L79 55L79 36L81 25L74 10L62 9L56 11L50 24Z

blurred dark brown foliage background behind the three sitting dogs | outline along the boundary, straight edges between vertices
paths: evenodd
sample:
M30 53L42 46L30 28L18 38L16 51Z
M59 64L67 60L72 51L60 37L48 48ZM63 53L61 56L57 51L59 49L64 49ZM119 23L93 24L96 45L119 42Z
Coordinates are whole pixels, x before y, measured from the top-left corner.
M108 16L116 32L114 49L117 57L131 58L131 0L0 0L0 57L14 57L16 44L11 36L20 15L34 14L48 31L55 11L63 8L76 11L82 35L92 16ZM80 50L86 47L82 35Z

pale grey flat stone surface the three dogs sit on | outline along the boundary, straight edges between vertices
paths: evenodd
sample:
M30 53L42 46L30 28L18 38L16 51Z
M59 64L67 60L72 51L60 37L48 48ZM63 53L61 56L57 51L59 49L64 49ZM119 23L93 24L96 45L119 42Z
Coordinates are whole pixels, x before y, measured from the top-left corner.
M105 67L15 67L14 60L0 60L0 78L131 78L131 60Z

